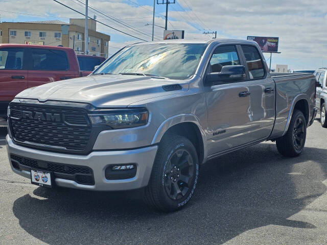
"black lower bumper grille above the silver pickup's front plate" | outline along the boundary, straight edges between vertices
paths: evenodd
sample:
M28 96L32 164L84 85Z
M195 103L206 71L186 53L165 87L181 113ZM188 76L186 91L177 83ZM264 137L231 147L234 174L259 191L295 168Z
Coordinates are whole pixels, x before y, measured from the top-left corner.
M53 172L55 178L73 180L83 185L94 185L94 175L91 168L70 164L40 161L31 158L10 154L10 160L14 168L31 171L42 169Z

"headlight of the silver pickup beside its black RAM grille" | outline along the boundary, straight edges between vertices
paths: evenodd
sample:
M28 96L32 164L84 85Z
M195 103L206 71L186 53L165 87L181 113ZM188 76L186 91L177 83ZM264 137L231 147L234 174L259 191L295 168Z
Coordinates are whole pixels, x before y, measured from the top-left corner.
M149 120L147 109L126 109L89 114L92 125L107 125L112 129L134 128L146 125Z

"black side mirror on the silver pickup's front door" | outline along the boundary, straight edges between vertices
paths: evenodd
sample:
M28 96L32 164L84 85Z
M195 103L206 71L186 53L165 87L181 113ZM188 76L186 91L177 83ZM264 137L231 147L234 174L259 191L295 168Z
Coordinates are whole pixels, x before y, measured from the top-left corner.
M215 85L218 82L228 83L240 81L245 78L244 65L225 65L220 72L212 72L206 75L206 84Z

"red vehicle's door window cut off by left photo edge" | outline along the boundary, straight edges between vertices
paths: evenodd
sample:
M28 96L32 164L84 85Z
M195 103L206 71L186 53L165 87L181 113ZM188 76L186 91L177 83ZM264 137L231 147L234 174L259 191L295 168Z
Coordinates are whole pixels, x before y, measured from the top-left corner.
M2 48L0 50L1 70L21 70L24 48Z

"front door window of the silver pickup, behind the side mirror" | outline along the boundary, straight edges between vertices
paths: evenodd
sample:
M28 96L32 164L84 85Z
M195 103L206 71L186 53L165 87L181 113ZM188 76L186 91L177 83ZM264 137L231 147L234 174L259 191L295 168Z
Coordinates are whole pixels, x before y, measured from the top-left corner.
M225 65L240 65L236 47L234 45L217 47L209 64L209 72L220 72Z

